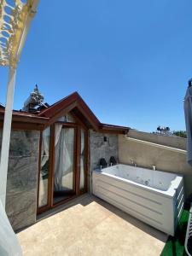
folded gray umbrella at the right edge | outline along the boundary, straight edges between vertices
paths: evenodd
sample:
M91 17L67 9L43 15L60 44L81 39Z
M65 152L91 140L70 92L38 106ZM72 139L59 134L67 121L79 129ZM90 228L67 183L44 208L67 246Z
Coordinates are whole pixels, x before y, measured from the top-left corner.
M184 97L184 116L187 132L187 160L192 166L192 79L189 80L189 87Z

